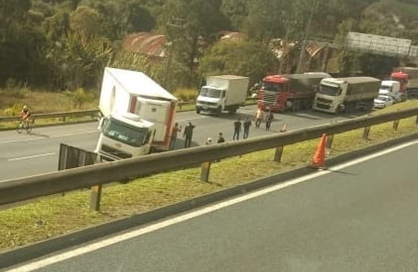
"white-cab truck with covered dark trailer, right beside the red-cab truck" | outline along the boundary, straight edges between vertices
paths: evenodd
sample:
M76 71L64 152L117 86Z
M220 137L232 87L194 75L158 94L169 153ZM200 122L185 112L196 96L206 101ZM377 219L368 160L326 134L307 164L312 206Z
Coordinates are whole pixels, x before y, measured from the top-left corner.
M381 80L368 76L324 78L315 96L313 109L324 112L371 110L379 96Z

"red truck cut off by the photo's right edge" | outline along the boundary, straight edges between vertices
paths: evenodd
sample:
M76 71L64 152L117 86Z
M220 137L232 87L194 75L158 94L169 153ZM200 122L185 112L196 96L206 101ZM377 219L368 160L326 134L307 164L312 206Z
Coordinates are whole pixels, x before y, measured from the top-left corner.
M391 74L391 79L401 83L401 92L408 97L418 96L418 68L399 67Z

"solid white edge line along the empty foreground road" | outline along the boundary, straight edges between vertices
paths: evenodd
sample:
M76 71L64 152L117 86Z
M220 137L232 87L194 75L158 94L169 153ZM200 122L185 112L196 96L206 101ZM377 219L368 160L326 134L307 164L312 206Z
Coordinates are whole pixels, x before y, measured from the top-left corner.
M168 226L171 226L171 225L174 225L174 224L177 224L177 223L180 223L180 222L183 222L183 221L186 221L186 220L189 220L189 219L207 214L209 212L213 212L215 210L219 210L221 208L225 208L225 207L228 207L228 206L231 206L231 205L234 205L234 204L238 204L238 203L241 203L241 202L253 199L253 198L257 198L257 197L260 197L260 196L263 196L263 195L281 190L283 188L289 187L291 185L295 185L295 184L302 183L302 182L305 182L305 181L308 181L308 180L311 180L311 179L314 179L314 178L317 178L317 177L320 177L320 176L324 176L324 175L333 173L334 171L342 170L342 169L347 168L349 166L353 166L353 165L362 163L364 161L368 161L368 160L386 155L388 153L398 151L402 148L405 148L405 147L408 147L410 145L417 144L417 143L418 143L418 140L408 142L408 143L404 143L402 145L392 147L390 149L386 149L386 150L383 150L383 151L380 151L380 152L377 152L377 153L374 153L374 154L371 154L371 155L364 156L364 157L359 158L359 159L348 161L346 163L337 165L335 167L331 167L329 169L329 171L327 171L327 170L318 171L316 173L313 173L313 174L310 174L310 175L307 175L307 176L303 176L303 177L300 177L300 178L296 178L296 179L293 179L293 180L290 180L290 181L287 181L287 182L284 182L284 183L281 183L281 184L278 184L278 185L275 185L275 186L272 186L272 187L269 187L269 188L266 188L266 189L263 189L263 190L260 190L260 191L257 191L257 192L249 193L248 195L240 196L240 197L230 199L230 200L218 203L218 204L210 205L210 206L207 206L207 207L204 207L204 208L201 208L201 209L198 209L198 210L195 210L195 211L192 211L192 212L180 215L180 216L176 216L174 218L170 218L170 219L167 219L167 220L164 220L162 222L158 222L158 223L149 225L147 227L144 227L144 228L141 228L141 229L138 229L138 230L134 230L134 231L131 231L131 232L128 232L128 233L120 234L120 235L117 235L117 236L114 236L114 237L111 237L111 238L104 239L104 240L99 241L99 242L95 242L95 243L85 245L85 246L82 246L80 248L68 251L68 252L58 254L56 256L52 256L52 257L48 257L48 258L45 258L45 259L42 259L42 260L39 260L39 261L35 261L33 263L29 263L27 265L23 265L23 266L20 266L18 268L15 268L15 269L8 270L6 272L31 272L31 271L34 271L34 270L37 270L37 269L40 269L40 268L44 268L46 266L56 264L56 263L68 260L70 258L80 256L80 255L83 255L83 254L86 254L86 253L89 253L89 252L92 252L92 251L95 251L95 250L98 250L98 249L101 249L101 248L104 248L104 247L107 247L107 246L111 246L111 245L129 240L129 239L138 237L140 235L150 233L152 231L159 230L159 229L162 229L162 228L165 228L165 227L168 227Z

